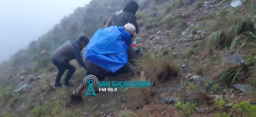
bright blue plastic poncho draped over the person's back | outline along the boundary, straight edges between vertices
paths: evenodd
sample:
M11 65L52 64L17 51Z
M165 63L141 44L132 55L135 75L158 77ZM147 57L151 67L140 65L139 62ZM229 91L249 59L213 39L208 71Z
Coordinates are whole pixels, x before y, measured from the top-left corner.
M101 28L91 38L84 56L92 63L115 73L128 62L126 51L131 42L131 35L122 26Z

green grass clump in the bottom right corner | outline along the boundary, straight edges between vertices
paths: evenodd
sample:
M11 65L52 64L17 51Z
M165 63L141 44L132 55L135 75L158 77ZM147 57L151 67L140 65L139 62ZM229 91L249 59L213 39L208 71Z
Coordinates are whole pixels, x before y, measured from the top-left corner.
M238 104L234 104L232 109L235 110L235 116L237 117L255 117L256 116L256 105L251 105L247 101L242 101Z

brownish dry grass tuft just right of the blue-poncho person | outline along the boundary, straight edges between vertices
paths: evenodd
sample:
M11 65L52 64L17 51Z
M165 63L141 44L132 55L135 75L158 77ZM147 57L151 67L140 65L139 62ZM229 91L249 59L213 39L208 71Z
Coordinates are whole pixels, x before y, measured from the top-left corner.
M135 61L137 69L143 70L145 77L149 78L152 85L158 86L159 81L168 80L171 76L178 74L178 67L174 63L169 63L155 53L145 54Z

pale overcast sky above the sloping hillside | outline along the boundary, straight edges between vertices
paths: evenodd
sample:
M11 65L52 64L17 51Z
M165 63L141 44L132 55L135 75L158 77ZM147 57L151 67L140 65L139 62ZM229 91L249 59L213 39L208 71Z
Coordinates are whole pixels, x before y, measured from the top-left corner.
M0 61L91 0L0 0Z

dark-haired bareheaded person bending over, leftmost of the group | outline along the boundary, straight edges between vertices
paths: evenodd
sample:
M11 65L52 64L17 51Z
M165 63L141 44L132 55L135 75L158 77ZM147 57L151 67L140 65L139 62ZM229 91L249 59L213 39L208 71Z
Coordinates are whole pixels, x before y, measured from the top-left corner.
M66 41L62 46L57 48L52 53L52 63L58 68L59 72L56 76L54 88L62 87L60 83L61 76L65 72L65 70L69 70L66 78L64 80L64 86L74 86L73 84L69 83L69 80L73 73L75 72L76 68L69 64L70 60L76 59L77 62L87 69L83 62L83 58L81 56L81 50L88 44L89 39L85 36L79 38L79 40L69 40Z

